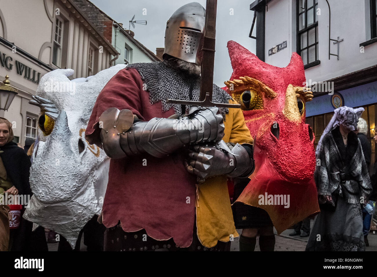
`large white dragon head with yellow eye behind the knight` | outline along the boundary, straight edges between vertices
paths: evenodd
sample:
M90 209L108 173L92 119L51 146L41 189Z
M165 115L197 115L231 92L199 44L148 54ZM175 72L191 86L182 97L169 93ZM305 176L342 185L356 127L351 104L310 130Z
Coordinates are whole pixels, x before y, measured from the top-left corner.
M34 195L24 217L54 229L72 246L86 222L100 213L109 170L104 151L85 140L86 125L98 94L124 67L72 81L67 77L74 70L53 70L41 78L30 101L41 110L30 170Z

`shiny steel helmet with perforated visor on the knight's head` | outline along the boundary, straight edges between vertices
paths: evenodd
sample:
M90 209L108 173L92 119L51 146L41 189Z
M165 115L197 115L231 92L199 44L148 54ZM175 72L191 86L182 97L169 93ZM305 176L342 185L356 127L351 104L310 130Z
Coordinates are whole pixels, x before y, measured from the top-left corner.
M176 10L166 23L165 50L162 58L169 56L189 63L201 64L205 9L197 2Z

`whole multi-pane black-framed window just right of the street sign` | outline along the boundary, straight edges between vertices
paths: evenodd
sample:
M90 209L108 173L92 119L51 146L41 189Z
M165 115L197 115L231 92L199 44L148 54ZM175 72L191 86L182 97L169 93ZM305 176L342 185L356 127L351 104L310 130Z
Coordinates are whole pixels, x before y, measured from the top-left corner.
M297 53L305 69L319 61L317 8L318 0L297 0Z

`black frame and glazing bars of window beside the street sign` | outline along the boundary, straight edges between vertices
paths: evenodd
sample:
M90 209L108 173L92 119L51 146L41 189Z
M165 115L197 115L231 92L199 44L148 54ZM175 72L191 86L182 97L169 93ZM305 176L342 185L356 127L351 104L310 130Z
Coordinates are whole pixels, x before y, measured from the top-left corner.
M302 55L302 51L307 50L306 54L306 63L304 64L304 68L307 69L311 66L316 66L320 64L319 60L319 40L318 40L318 18L316 19L316 11L318 8L318 0L313 0L313 6L307 7L308 0L304 0L304 9L302 10L300 6L300 0L296 0L296 52L300 56ZM308 10L313 9L313 24L308 26ZM305 25L304 28L300 30L300 15L305 16ZM317 20L317 21L316 21ZM309 45L309 31L314 29L314 43ZM307 45L306 47L301 48L301 35L307 33ZM315 58L314 61L309 63L309 48L314 46L314 54ZM304 59L302 59L304 62Z

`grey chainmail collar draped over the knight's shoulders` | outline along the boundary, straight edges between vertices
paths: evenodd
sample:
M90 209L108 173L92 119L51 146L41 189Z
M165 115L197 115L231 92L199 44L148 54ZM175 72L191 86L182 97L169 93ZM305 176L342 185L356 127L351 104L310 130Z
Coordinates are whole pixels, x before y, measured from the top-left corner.
M138 70L141 79L147 85L150 104L161 101L162 112L173 108L176 114L182 113L181 105L167 103L166 99L199 101L200 77L189 75L178 69L174 61L159 61L155 63L134 63L126 68ZM192 87L192 95L190 95ZM190 96L192 98L190 99ZM212 102L228 103L230 95L213 84ZM186 107L186 110L190 106ZM219 108L222 116L229 112L228 108Z

